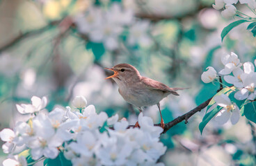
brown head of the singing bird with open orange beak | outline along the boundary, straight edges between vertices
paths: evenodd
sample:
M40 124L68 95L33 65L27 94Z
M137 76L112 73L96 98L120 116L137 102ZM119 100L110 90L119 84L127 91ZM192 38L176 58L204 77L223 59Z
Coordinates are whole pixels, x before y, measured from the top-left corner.
M115 82L135 82L141 78L140 73L137 69L130 64L118 64L113 66L113 68L106 68L113 71L114 74L106 77L106 79L112 78Z

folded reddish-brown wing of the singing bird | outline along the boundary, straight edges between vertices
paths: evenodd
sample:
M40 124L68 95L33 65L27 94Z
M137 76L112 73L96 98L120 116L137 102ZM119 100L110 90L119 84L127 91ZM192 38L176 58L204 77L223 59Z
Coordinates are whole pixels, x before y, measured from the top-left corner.
M172 89L169 86L167 86L167 85L165 85L161 82L158 82L156 80L152 80L152 79L147 78L147 77L142 77L141 82L149 88L157 89L157 90L160 90L160 91L163 91L163 92L172 93L173 95L179 95L177 92L175 92L179 89Z

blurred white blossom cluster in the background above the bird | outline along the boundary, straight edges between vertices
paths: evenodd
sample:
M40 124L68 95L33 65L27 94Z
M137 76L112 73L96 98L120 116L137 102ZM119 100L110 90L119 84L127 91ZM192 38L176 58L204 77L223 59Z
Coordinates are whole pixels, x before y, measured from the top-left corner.
M79 33L88 37L91 42L103 43L108 50L118 48L125 29L129 29L127 44L148 46L152 39L147 35L150 21L138 21L131 9L122 8L120 3L112 3L108 9L90 6L85 13L74 17Z

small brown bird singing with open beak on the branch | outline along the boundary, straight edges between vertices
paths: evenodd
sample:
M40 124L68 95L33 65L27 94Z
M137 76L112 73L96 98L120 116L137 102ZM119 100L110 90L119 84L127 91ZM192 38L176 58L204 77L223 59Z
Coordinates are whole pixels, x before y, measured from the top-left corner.
M161 116L161 127L164 129L163 117L159 102L168 95L179 95L176 91L182 88L170 88L161 82L157 82L148 77L143 77L138 70L130 64L118 64L113 68L106 68L114 74L106 79L112 78L119 86L119 93L127 102L138 107L141 112L142 107L157 104ZM135 124L138 127L138 122Z

